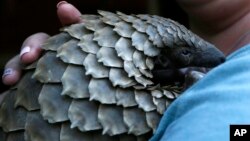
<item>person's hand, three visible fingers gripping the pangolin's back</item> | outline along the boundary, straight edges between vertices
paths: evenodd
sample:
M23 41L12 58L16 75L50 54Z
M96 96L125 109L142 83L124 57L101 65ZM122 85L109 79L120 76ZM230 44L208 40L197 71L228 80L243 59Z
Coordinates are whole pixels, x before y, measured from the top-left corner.
M66 1L57 4L57 15L62 25L81 22L81 13ZM10 59L5 65L2 81L5 85L14 85L21 77L22 67L37 60L41 53L41 45L49 38L46 33L36 33L29 36L21 47L20 55Z

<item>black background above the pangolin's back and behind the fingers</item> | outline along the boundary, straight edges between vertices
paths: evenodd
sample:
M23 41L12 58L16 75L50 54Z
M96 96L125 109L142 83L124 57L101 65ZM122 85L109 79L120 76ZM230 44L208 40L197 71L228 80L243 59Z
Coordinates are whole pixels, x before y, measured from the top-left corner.
M31 34L58 33L56 15L60 0L0 0L0 74L4 64L19 53L22 42ZM187 17L175 0L68 0L82 13L96 10L121 11L126 14L148 13L176 20L187 26ZM0 93L7 87L0 82Z

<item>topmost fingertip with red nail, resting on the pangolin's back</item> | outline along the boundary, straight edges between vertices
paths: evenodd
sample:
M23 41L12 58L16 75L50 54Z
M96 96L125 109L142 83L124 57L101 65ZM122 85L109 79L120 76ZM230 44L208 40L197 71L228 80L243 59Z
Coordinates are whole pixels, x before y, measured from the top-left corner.
M81 22L81 12L66 1L61 1L57 4L57 15L62 25L70 25Z

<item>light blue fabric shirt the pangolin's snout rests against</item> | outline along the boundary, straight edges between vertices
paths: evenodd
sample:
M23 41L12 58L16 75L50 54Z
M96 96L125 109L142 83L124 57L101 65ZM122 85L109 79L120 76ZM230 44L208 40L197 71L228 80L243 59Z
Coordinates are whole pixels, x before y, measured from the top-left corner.
M250 45L175 100L151 141L229 141L230 124L250 124Z

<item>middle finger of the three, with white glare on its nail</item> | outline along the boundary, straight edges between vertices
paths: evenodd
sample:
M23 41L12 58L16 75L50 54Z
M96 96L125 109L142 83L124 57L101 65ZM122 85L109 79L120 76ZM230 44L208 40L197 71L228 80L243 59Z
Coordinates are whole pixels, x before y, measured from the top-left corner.
M33 63L41 53L41 45L49 38L48 34L36 33L29 36L23 43L20 52L20 60L23 64Z

